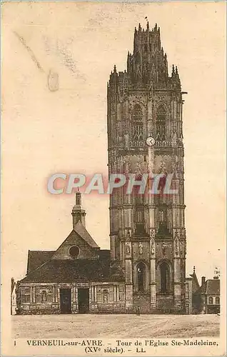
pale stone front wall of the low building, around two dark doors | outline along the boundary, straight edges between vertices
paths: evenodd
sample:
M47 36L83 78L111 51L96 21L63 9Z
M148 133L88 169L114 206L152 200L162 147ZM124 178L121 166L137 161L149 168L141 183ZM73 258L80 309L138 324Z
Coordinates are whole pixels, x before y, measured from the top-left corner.
M123 313L124 283L26 283L18 289L18 314L61 313L60 289L71 289L71 313L79 313L79 288L89 288L88 313Z

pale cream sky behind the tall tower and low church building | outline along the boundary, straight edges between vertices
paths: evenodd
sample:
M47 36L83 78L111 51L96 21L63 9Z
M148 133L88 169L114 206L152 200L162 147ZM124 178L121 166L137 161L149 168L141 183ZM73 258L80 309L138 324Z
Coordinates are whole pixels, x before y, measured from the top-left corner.
M126 69L134 27L156 23L183 91L187 271L213 277L225 256L225 4L3 4L4 274L26 272L28 250L56 249L74 196L51 196L56 172L107 175L106 82ZM23 36L43 71L15 35ZM47 87L52 69L59 91ZM84 197L86 227L109 248L109 198ZM220 251L218 251L220 249Z

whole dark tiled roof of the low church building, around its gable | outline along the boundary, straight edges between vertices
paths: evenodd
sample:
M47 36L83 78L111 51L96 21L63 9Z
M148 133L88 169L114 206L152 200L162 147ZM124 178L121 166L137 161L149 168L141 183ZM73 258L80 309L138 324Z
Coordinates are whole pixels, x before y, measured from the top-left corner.
M97 249L96 259L54 258L61 246L75 239L75 232ZM81 222L76 223L61 246L56 251L29 251L27 275L20 282L123 281L123 272L110 266L110 251L100 250Z

